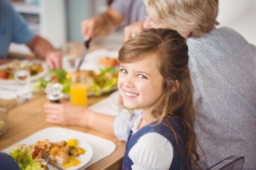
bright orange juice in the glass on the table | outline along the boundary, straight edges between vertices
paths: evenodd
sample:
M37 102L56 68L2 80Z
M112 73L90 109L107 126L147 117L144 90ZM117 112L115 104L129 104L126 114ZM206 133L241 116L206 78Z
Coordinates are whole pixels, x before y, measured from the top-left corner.
M71 102L75 105L86 106L87 87L81 83L74 83L70 86Z

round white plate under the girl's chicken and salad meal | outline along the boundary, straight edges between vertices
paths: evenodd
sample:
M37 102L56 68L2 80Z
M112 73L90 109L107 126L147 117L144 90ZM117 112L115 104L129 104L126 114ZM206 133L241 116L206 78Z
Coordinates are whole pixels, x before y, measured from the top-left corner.
M58 128L58 127L45 128L21 140L20 142L18 142L18 144L31 145L31 144L35 144L37 141L43 141L45 139L49 139L49 141L51 142L57 142L61 140L71 139L71 138L78 139L78 146L85 150L85 153L76 157L81 161L81 163L75 167L66 168L65 170L82 170L84 169L84 166L91 160L93 156L93 148L89 143L87 143L85 140L80 138L80 136L78 136L76 132L77 131L69 130L65 128ZM9 154L10 150L13 149L14 146L15 144L4 149L2 152ZM50 165L48 167L50 170L55 170Z

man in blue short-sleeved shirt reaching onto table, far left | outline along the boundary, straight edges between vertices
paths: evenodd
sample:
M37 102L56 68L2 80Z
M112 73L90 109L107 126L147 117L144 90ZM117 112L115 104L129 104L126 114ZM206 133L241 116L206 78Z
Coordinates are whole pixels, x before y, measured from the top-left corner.
M0 59L8 59L11 42L26 44L35 55L44 58L50 68L61 68L60 52L49 41L32 32L9 0L0 0Z

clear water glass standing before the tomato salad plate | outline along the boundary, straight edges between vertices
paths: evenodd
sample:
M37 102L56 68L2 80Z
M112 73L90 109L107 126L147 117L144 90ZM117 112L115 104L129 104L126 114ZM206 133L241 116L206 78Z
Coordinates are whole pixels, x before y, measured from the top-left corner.
M28 68L19 68L14 73L17 102L31 100L30 72Z

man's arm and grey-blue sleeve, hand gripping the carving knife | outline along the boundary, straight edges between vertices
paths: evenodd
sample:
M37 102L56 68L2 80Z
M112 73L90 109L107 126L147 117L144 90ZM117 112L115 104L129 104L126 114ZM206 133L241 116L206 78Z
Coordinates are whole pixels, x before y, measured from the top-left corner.
M123 28L146 17L143 0L114 0L105 12L81 22L81 34L85 40L89 40L108 35L118 27Z

